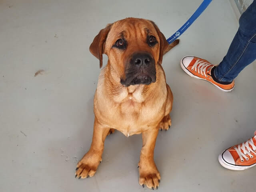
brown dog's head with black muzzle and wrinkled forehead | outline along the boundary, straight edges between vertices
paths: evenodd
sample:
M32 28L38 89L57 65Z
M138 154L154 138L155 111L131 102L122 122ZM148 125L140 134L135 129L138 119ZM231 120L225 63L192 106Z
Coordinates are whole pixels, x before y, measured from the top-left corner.
M90 45L90 52L100 60L108 55L111 68L125 86L156 82L156 63L162 63L164 35L154 22L126 18L100 30Z

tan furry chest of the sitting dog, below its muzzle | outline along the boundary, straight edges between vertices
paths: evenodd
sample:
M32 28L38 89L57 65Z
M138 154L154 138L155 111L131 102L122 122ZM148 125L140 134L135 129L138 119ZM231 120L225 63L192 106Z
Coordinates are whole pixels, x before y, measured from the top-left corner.
M166 93L161 93L158 87L155 92L160 94L155 95L155 92L145 92L144 85L118 87L111 91L101 85L99 79L94 100L94 113L101 124L119 130L127 137L157 126L164 114L166 98Z

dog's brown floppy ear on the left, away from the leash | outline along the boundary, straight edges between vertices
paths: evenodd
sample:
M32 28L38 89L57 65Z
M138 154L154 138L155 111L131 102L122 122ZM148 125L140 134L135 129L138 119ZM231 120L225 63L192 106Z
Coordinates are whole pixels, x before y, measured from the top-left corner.
M94 38L90 45L90 52L100 60L100 68L102 67L102 54L104 53L106 38L111 26L112 24L108 24L106 28L100 30L99 34Z

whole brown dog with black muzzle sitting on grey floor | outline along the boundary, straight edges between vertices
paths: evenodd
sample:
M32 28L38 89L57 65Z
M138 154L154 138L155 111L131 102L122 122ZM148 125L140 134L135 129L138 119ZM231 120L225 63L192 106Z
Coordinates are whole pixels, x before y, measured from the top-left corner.
M94 96L94 130L90 150L78 162L76 177L94 176L102 160L104 140L114 129L124 135L142 134L138 163L139 184L158 188L160 173L154 163L158 130L168 130L173 96L161 66L168 44L154 22L126 18L100 30L90 52L108 64L100 73Z

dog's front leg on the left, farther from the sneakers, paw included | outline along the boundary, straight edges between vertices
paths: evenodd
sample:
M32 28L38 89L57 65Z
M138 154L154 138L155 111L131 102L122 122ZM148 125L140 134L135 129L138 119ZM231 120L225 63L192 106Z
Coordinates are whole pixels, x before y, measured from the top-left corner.
M76 176L79 179L94 176L101 160L104 149L104 141L110 128L106 128L94 120L94 129L92 136L92 144L90 150L78 162L76 166Z

